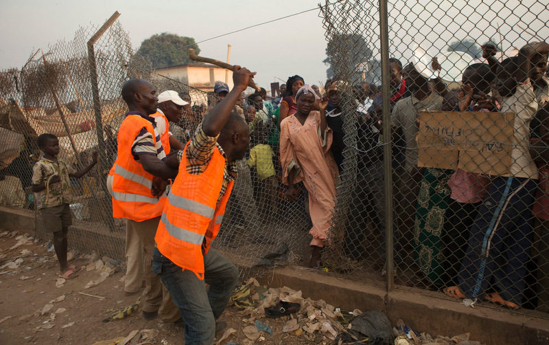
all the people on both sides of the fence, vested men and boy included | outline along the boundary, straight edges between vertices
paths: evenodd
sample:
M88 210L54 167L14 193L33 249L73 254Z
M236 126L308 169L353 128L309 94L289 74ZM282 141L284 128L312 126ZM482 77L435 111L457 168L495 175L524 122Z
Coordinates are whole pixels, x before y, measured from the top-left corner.
M389 60L395 267L416 265L424 284L452 298L518 309L533 293L533 307L549 311L549 45L529 43L502 62L495 53L495 46L484 45L486 63L465 68L457 89ZM436 59L432 67L441 68ZM126 219L124 290L141 292L144 276L143 317L183 318L186 344L213 342L215 320L237 283L235 265L211 246L220 232L231 232L230 222L221 224L235 212L253 228L258 214L276 221L285 201L306 198L301 205L312 224L306 261L320 267L336 188L352 178L356 188L340 224L342 249L349 260L371 259L371 227L380 238L373 266L398 274L384 265L382 142L388 140L382 92L337 77L320 90L294 75L269 98L262 88L246 93L253 76L235 67L233 89L218 82L207 103L194 105L188 94L157 94L146 80L128 80L121 89L128 113L116 135L107 130L116 152L107 179L113 217ZM513 113L509 173L419 166L420 111ZM170 122L183 128L181 135L170 131ZM77 269L67 265L69 176L89 172L97 154L76 171L56 157L55 135L40 135L38 146L43 154L32 191L54 236L60 276L73 278ZM351 156L355 164L349 164ZM272 236L257 231L250 240L268 243Z

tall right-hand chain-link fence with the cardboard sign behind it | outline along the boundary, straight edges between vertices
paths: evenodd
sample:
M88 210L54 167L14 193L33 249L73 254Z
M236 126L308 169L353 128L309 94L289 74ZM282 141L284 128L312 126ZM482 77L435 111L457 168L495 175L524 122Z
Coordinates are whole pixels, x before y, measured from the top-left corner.
M394 264L396 285L548 311L546 161L528 150L533 137L546 145L546 47L519 56L548 41L546 4L378 6L322 9L343 143L326 256L349 278L385 280Z

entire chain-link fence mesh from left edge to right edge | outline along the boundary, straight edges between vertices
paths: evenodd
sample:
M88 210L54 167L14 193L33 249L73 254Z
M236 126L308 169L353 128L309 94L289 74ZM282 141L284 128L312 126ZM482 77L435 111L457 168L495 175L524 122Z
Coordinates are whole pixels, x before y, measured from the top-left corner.
M328 201L309 209L309 199L318 196L307 184L314 179L314 173L307 176L310 171L296 184L298 197L290 201L285 196L288 166L281 164L281 137L288 133L281 133L278 117L281 111L298 110L292 92L278 109L284 102L271 107L250 93L234 109L250 125L250 146L246 159L237 162L239 177L214 246L241 267L254 267L255 274L277 262L308 263L307 232L320 218L329 223L321 265L346 278L382 281L390 212L394 257L389 259L395 263L397 285L548 311L549 173L544 151L528 151L530 137L537 138L538 148L546 143L547 61L536 54L530 56L535 65L512 58L526 43L547 40L546 5L389 1L388 61L380 58L376 2L326 3L320 16L334 73L325 91L330 98L328 156L338 171L335 207L319 212L331 205ZM4 205L35 210L36 137L57 135L60 157L77 170L88 164L99 138L104 151L98 167L71 179L73 230L85 230L78 234L87 250L121 258L125 225L112 217L105 184L127 110L121 85L128 78L145 78L159 92L172 89L190 101L180 121L170 124L183 143L218 97L155 74L148 60L135 58L128 34L115 22L94 45L98 116L86 49L96 30L81 28L73 41L34 53L21 71L0 73L0 190ZM388 95L379 92L384 64L390 71ZM525 66L532 66L533 87L520 75ZM384 157L382 144L387 140L384 98L390 103L390 158ZM305 167L307 159L295 158ZM392 171L384 168L386 159ZM393 177L390 190L384 184L388 174ZM392 210L386 208L387 197L393 198ZM49 239L43 221L36 224L37 234Z

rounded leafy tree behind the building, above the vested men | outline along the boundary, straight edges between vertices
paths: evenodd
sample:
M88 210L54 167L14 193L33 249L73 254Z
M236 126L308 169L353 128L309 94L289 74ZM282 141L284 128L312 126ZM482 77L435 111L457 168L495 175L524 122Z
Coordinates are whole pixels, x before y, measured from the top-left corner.
M189 48L200 52L194 38L163 32L141 42L137 55L149 58L152 67L163 68L189 63Z

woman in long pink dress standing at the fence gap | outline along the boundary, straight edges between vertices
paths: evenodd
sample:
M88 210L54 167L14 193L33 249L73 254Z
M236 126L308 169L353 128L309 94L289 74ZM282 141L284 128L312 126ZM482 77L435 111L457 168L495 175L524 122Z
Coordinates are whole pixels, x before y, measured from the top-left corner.
M338 168L329 148L331 129L326 124L327 98L320 102L320 112L314 111L318 98L305 85L296 93L297 111L282 120L280 157L283 183L288 186L286 197L296 199L295 183L303 181L309 192L309 214L313 223L312 254L309 265L317 267L320 249L324 247L329 230L331 211L336 202Z

